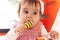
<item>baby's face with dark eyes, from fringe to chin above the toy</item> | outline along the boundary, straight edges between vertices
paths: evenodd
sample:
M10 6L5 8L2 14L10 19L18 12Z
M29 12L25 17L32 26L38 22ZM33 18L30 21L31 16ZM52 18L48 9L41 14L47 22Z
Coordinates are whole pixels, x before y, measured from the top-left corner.
M23 23L26 20L30 20L33 26L36 25L40 19L40 4L38 3L37 6L35 6L35 4L30 5L27 2L25 4L21 4L19 17Z

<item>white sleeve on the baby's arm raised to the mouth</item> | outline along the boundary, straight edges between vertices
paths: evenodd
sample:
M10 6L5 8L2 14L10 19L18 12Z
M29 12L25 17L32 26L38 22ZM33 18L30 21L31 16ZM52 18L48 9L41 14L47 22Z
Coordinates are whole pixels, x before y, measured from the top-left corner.
M6 34L5 36L5 40L16 40L16 38L18 37L18 34L16 34L14 32L14 29L10 29L10 31Z

